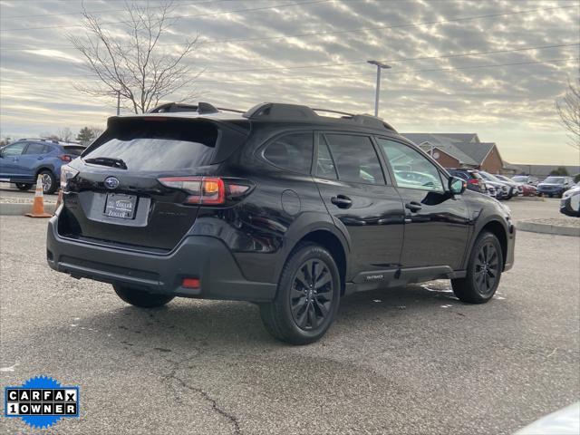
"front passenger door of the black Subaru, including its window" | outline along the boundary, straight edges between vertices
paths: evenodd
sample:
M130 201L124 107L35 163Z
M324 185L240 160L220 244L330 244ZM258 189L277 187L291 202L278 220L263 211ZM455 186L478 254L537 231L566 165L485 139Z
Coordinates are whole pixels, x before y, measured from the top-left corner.
M445 175L420 151L399 141L378 138L390 163L405 207L403 267L463 263L469 236L468 208L447 189Z

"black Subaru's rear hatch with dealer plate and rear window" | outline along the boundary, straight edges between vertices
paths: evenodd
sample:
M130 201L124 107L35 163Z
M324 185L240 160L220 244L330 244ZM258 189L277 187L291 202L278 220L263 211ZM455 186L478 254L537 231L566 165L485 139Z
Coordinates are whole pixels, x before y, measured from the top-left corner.
M59 234L169 251L193 225L199 206L160 179L211 175L246 137L204 118L111 118L99 140L63 171L69 179L62 180Z

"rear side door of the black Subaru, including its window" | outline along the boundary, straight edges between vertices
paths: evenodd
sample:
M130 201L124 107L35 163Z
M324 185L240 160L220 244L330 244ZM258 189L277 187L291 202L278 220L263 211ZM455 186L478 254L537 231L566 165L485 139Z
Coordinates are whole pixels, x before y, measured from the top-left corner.
M328 132L317 133L316 142L314 179L335 223L351 238L351 272L399 266L401 197L387 183L372 139Z

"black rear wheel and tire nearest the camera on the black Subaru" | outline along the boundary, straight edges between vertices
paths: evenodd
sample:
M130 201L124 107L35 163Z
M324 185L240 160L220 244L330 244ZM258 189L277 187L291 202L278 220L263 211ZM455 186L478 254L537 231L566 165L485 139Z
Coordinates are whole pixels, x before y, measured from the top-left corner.
M318 278L313 280L313 275ZM274 302L260 304L262 322L277 340L314 343L333 323L340 295L341 278L333 256L324 247L300 244L286 260Z

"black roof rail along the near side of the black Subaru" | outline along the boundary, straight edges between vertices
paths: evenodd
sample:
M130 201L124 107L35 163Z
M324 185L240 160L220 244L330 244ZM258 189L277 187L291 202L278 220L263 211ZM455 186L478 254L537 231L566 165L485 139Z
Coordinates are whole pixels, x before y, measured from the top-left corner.
M317 111L338 113L344 115L341 118L336 119L336 121L352 121L353 123L360 124L365 127L371 127L373 129L380 130L386 129L390 131L395 131L395 129L392 128L391 124L382 121L381 118L378 118L376 116L367 114L355 115L353 113L348 113L346 111L334 111L330 109L313 109L308 106L303 106L299 104L263 102L251 108L249 111L244 113L243 116L245 116L250 120L255 119L255 120L276 120L276 121L284 121L284 120L316 121L320 120L321 118L321 116L318 113L316 113Z

